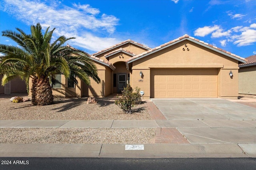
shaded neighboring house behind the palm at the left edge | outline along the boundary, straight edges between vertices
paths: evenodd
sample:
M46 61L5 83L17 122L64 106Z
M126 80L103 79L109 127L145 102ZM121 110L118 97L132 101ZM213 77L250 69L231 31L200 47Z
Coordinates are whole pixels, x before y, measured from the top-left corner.
M0 81L2 81L2 75L0 75ZM26 83L20 78L15 78L4 86L0 85L0 94L20 93L27 92Z

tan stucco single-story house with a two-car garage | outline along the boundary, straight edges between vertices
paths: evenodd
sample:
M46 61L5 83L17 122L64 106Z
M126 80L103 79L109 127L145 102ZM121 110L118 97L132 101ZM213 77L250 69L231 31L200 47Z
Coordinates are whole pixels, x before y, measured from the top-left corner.
M130 39L90 56L101 83L53 88L54 96L105 97L127 84L148 98L237 98L238 64L244 58L184 35L153 49ZM230 76L230 71L232 76Z

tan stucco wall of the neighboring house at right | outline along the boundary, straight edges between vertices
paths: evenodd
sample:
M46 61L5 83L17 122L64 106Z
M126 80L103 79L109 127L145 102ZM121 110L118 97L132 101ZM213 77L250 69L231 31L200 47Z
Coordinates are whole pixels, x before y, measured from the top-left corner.
M256 66L241 67L238 72L239 94L256 95Z

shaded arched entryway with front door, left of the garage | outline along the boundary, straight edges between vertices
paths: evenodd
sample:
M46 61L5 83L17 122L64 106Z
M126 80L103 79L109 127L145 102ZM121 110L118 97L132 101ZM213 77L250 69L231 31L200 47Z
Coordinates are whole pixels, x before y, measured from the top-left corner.
M124 87L130 83L130 72L126 68L126 64L123 61L113 64L116 69L113 71L113 92L121 93Z

